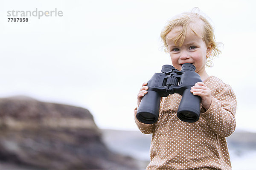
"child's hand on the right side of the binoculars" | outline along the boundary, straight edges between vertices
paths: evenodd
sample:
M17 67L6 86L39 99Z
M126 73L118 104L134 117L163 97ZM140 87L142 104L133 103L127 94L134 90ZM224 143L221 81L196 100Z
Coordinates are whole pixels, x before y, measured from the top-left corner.
M190 90L194 95L200 96L202 98L202 107L206 110L209 109L212 103L212 92L203 82L197 82Z

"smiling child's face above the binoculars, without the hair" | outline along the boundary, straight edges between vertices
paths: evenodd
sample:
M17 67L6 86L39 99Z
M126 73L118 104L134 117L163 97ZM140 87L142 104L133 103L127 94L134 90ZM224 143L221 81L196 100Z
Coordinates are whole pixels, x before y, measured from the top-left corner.
M195 30L200 34L195 34L191 29L186 32L186 37L181 46L175 45L174 38L179 34L182 27L176 27L170 31L166 36L166 43L169 48L169 54L172 59L172 65L181 70L181 65L184 63L191 63L195 65L196 72L199 75L206 73L205 64L206 57L211 53L211 45L206 45L201 36L200 30Z

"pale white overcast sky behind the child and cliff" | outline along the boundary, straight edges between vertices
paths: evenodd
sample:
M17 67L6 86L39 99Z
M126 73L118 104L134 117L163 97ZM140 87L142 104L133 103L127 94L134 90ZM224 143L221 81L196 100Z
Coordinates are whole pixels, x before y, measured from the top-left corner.
M137 130L133 110L142 83L172 64L160 31L194 7L207 15L224 44L207 73L235 91L237 129L256 132L253 0L3 0L0 97L75 105L87 108L99 128ZM56 10L62 16L8 22L13 10Z

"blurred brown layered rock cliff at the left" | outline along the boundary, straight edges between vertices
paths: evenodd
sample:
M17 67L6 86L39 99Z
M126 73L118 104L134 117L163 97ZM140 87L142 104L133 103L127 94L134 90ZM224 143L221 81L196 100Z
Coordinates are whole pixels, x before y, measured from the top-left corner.
M108 150L87 109L18 96L0 99L0 161L36 170L137 170Z

